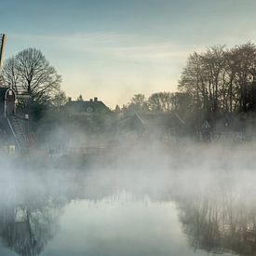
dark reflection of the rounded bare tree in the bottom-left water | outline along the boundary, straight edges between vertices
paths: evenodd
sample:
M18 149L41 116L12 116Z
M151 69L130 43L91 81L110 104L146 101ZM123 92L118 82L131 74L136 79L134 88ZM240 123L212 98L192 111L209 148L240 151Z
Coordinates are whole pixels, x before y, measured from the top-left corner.
M40 254L53 238L58 227L61 205L47 201L36 207L30 205L2 206L0 236L9 249L24 256Z

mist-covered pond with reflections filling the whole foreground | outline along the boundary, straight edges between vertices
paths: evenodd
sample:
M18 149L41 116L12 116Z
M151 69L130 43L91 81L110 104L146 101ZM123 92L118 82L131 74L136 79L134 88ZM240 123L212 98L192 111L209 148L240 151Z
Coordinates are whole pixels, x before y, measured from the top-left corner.
M0 255L255 255L254 155L183 141L2 159Z

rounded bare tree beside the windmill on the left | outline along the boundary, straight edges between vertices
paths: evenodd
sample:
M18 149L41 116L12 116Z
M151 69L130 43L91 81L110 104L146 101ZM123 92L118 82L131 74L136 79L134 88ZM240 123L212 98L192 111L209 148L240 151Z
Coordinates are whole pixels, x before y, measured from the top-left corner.
M3 74L6 83L18 93L26 92L40 103L50 103L61 90L61 75L35 48L24 49L7 59Z

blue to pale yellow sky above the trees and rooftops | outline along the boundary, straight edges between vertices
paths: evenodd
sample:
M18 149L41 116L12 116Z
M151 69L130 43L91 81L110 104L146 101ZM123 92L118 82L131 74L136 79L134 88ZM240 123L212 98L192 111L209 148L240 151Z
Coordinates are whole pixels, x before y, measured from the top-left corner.
M0 0L5 58L40 49L75 100L177 90L194 51L256 42L255 0Z

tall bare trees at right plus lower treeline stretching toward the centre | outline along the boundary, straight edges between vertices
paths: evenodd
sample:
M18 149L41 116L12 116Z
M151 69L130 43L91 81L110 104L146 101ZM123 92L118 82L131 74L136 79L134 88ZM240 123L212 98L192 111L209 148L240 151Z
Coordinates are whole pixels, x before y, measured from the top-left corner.
M157 92L148 99L136 94L123 106L129 112L234 113L256 110L256 46L209 47L192 53L178 92ZM119 107L116 107L118 110Z

